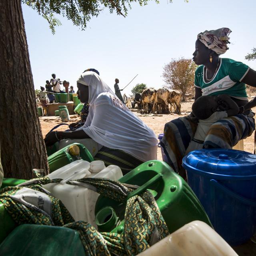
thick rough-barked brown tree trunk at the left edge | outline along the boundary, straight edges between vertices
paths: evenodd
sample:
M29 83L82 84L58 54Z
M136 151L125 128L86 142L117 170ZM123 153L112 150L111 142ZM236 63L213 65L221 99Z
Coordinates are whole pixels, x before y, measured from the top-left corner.
M0 144L4 177L48 173L20 0L0 0Z

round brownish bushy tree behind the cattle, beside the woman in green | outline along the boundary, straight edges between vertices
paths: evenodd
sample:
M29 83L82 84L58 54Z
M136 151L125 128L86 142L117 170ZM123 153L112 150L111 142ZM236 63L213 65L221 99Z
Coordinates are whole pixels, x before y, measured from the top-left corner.
M184 95L188 93L194 94L194 77L197 65L192 59L180 58L172 59L171 62L164 66L162 77L169 88L180 90L183 100Z

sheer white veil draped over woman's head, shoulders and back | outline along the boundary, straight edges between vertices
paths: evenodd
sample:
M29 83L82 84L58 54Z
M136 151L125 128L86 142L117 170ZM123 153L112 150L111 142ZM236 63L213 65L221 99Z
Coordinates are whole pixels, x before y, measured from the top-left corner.
M83 129L102 146L120 149L142 160L156 159L154 132L132 113L95 72L84 72L78 83L89 86L89 114Z

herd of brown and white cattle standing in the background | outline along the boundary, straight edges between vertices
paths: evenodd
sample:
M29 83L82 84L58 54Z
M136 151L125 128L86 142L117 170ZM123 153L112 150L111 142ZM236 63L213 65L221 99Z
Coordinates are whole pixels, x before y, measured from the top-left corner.
M190 94L185 95L185 97L191 100L192 94L191 97ZM182 93L178 90L146 88L142 93L136 93L134 98L127 97L124 94L123 99L128 108L135 108L137 104L138 110L142 113L149 114L151 112L157 112L159 114L159 108L162 110L163 114L167 114L169 111L176 114L180 114L181 112Z

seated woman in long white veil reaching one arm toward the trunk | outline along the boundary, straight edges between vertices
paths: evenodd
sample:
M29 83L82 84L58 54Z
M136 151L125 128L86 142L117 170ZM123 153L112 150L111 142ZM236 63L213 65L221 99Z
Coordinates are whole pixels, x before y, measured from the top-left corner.
M103 146L94 159L117 165L124 174L157 158L154 132L116 97L98 74L82 73L77 87L81 102L90 104L84 126L71 132L48 133L44 139L46 146L67 138L92 138Z

